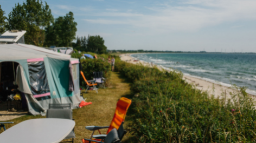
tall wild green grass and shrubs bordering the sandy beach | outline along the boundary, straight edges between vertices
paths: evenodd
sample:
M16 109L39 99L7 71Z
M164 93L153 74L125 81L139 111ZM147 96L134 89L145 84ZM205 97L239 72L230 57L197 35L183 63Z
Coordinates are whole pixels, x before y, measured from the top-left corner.
M132 124L138 142L254 142L255 102L239 88L227 99L196 90L181 72L116 63L132 81Z

